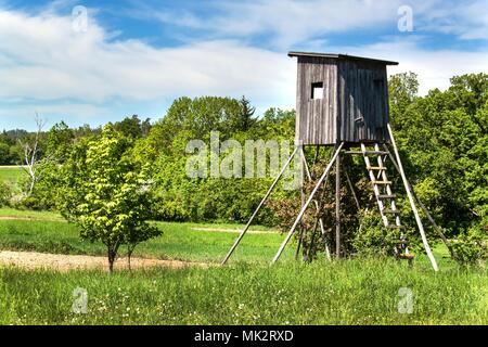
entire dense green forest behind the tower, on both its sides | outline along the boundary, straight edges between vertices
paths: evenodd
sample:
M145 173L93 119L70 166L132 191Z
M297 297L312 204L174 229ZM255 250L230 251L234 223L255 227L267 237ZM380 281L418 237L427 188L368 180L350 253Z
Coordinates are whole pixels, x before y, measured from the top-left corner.
M445 234L455 241L463 261L486 257L488 75L454 77L448 90L435 89L425 97L418 95L414 74L395 75L389 81L389 97L391 126L415 192ZM187 143L193 139L208 142L211 131L219 131L221 141L274 139L293 143L295 113L270 108L258 116L245 98L180 98L155 123L131 116L95 129L89 126L72 129L61 123L39 133L3 131L0 164L24 165L25 149L36 143L38 150L34 152L35 177L23 179L22 192L3 184L1 200L16 208L69 210L73 206L68 206L68 188L75 180L90 180L79 176L81 166L95 159L87 158L90 151L103 143L106 153L100 147L97 151L102 152L97 153L106 155L106 162L99 165L114 165L126 174L144 174L140 182L150 187L151 219L246 221L272 178L189 178ZM328 150L322 151L326 158ZM365 205L371 188L365 183L363 165L356 164L357 169L350 176ZM299 194L280 189L258 222L286 228L288 215L298 207ZM350 194L345 191L343 203L348 226L345 253L382 249L382 242L374 242L381 229L377 216L358 214L355 202L347 195ZM408 207L401 200L399 203ZM325 214L328 208L334 208L332 203L325 206ZM414 224L412 220L410 223ZM434 231L431 234L435 235ZM415 237L412 231L412 239Z

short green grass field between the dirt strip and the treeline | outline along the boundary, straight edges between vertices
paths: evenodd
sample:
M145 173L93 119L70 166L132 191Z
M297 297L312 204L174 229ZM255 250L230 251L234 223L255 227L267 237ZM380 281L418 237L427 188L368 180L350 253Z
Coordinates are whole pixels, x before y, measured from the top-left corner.
M100 244L82 241L76 226L65 222L57 214L0 209L0 248L76 255L105 255ZM159 259L217 262L222 259L237 237L239 224L157 223L164 234L136 248L134 256ZM207 231L229 230L234 232ZM235 252L234 260L269 261L283 236L264 227L253 227ZM125 249L121 249L124 253ZM285 253L290 258L293 252Z

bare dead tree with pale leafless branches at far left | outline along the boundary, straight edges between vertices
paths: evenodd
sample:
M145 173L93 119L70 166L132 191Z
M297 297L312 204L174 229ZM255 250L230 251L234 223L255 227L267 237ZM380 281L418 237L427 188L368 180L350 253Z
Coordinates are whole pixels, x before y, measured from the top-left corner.
M27 176L29 177L30 183L29 183L29 190L28 190L28 195L30 195L34 191L34 188L36 185L37 182L37 167L36 164L39 160L39 141L40 141L40 137L42 133L42 129L46 126L47 120L41 119L39 117L39 114L36 113L36 117L35 117L35 121L36 121L36 127L37 127L37 131L36 134L34 137L33 140L18 140L18 143L21 144L22 149L23 149L23 166L22 168L24 169L24 171L27 174Z

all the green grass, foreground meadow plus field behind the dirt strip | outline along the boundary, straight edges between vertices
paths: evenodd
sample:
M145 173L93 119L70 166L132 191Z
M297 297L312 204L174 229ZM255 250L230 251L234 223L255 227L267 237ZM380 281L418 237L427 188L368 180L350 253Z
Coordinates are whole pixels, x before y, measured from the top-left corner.
M158 223L165 234L136 256L217 262L240 226ZM213 229L219 231L195 230ZM254 230L270 231L255 227ZM413 269L395 260L295 264L293 246L268 262L283 235L248 234L231 266L183 270L78 270L61 273L0 267L1 324L488 324L488 277L436 248L440 272L420 257ZM0 249L104 255L52 213L0 209ZM88 293L75 314L75 288ZM399 313L399 290L413 293L413 312Z

